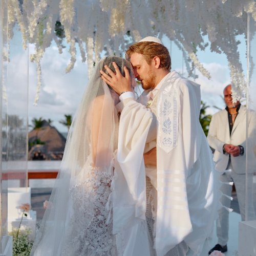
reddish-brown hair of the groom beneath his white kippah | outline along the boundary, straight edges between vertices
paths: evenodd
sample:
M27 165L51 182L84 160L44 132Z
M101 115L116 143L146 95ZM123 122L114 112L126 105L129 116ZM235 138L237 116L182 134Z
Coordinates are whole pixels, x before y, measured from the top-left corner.
M129 47L125 53L125 58L130 61L131 55L133 53L142 54L148 65L150 65L152 59L157 56L160 58L160 68L170 70L172 63L168 49L165 46L158 44L157 42L137 42L136 44Z

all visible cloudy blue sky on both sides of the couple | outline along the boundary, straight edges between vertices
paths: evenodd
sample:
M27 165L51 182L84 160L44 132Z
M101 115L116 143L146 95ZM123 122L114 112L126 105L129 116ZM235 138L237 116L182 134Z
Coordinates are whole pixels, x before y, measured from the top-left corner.
M240 38L243 42L243 38ZM170 49L168 39L163 39L163 44ZM242 65L246 70L246 46L243 42L239 48ZM80 102L84 89L88 81L87 63L82 63L77 51L77 62L73 70L66 74L65 69L68 66L70 54L68 48L58 53L56 45L52 44L47 49L42 58L42 87L37 106L33 105L36 93L36 67L29 61L29 54L33 52L33 46L29 50L22 49L22 39L20 32L14 33L10 41L10 62L8 64L8 113L26 116L28 112L29 124L32 118L42 117L52 119L59 132L67 132L66 126L59 123L64 119L65 114L74 116L76 108ZM182 53L172 44L172 69L180 74L182 73ZM256 52L255 52L256 58ZM204 67L210 72L211 79L208 80L201 75L195 81L201 84L201 98L209 105L207 112L214 114L218 111L214 106L220 109L225 107L222 99L223 88L229 84L229 69L227 59L223 54L211 53L209 49L198 52L198 58ZM185 69L185 68L184 68ZM185 70L184 70L185 71ZM254 72L255 73L255 72ZM29 74L29 75L27 75ZM185 76L185 74L184 74ZM26 90L27 84L29 89ZM28 97L29 101L25 99ZM31 128L30 128L31 129Z

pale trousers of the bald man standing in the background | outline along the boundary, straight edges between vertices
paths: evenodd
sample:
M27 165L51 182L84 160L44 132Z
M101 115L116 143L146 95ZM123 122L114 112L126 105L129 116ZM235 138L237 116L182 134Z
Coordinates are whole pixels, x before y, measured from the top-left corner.
M246 195L246 175L245 174L236 174L232 170L231 163L229 164L227 169L231 169L231 172L226 172L220 175L221 182L234 182L237 191L239 209L241 214L242 221L245 221L245 212L248 211L248 220L255 220L255 212L253 206L253 174L248 174L248 206L246 209L245 206L245 195ZM223 194L230 196L232 193L232 186L228 184L221 185L221 191ZM221 196L221 204L230 208L230 199L225 197L224 195ZM229 227L229 211L225 209L225 207L221 207L218 211L218 220L217 220L217 237L218 237L218 244L226 245L228 241L228 227Z

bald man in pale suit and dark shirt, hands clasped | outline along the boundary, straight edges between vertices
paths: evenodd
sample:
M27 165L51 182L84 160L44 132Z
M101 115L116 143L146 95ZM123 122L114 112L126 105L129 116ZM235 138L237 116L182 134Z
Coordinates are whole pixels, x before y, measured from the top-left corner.
M208 142L214 150L214 161L216 169L220 172L220 181L222 182L221 204L223 207L219 210L219 220L217 221L218 244L215 245L209 254L218 250L227 251L228 241L228 217L232 190L232 182L236 185L238 203L241 212L242 221L245 221L245 212L248 210L248 219L255 218L252 200L252 181L253 172L255 172L256 158L254 154L255 144L255 113L249 111L248 115L248 148L246 151L246 108L239 101L232 102L231 84L225 87L224 101L226 108L212 116ZM246 152L245 152L246 151ZM245 159L248 154L248 187L245 186ZM246 209L245 194L248 189L248 207Z

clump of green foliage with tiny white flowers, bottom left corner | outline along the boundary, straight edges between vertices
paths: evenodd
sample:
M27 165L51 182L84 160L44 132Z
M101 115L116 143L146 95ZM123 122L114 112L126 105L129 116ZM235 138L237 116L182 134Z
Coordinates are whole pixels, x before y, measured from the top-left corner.
M30 229L19 231L17 236L17 229L9 232L13 237L13 256L29 256L33 242L29 239Z

